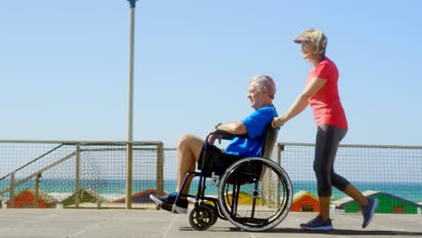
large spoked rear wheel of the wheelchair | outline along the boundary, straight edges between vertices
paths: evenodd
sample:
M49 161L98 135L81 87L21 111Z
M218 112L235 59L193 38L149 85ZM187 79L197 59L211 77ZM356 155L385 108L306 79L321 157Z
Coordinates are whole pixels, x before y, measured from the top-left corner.
M266 231L280 224L289 214L292 198L289 176L272 160L238 160L220 179L221 213L245 231Z

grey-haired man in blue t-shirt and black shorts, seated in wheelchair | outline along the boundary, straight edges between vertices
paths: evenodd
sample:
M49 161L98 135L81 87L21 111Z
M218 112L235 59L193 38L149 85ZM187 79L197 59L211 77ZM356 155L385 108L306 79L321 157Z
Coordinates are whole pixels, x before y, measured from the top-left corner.
M234 139L221 151L214 145L217 135L208 137L207 151L217 152L218 156L214 157L215 164L219 169L227 169L236 160L245 157L258 156L262 150L261 145L265 140L265 129L275 116L278 116L277 110L272 105L272 100L276 94L276 86L274 80L265 75L255 76L249 82L248 98L251 100L251 106L255 111L240 122L231 122L225 124L217 124L213 131L225 131L227 133L244 135L248 137L234 137ZM183 179L186 174L195 169L196 162L201 164L203 157L205 140L192 134L185 134L180 137L177 146L178 153L178 184L175 192L166 196L158 197L151 195L152 201L162 206L163 203L173 206L178 197L178 192L188 194L191 178L186 181L183 190ZM173 206L173 212L179 214L188 213L187 197L179 196L177 203Z

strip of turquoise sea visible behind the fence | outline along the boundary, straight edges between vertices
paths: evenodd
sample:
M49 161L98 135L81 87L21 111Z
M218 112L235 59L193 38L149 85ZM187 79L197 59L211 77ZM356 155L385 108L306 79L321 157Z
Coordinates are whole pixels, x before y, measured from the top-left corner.
M19 179L17 179L19 180ZM209 180L209 179L208 179ZM155 179L133 179L133 194L157 188ZM34 188L35 182L29 181L18 188L15 188L15 194L27 188ZM176 188L177 181L174 179L165 179L163 190L166 192L172 192ZM197 193L197 179L192 181L189 194ZM316 181L307 180L293 180L293 192L308 191L312 195L317 196L316 192ZM411 202L421 203L422 202L422 182L387 182L387 181L360 181L354 182L353 186L365 191L376 191L388 193L390 195L401 197ZM9 187L9 181L0 181L0 191ZM42 191L56 197L59 201L69 197L74 193L75 180L74 179L63 179L63 178L41 178L40 188ZM120 178L113 179L82 179L80 181L80 188L90 188L96 191L97 194L105 197L109 201L114 201L125 196L125 180ZM206 194L217 195L218 188L212 184L211 181L206 182ZM8 199L9 194L0 194L0 199L5 201ZM333 188L332 200L344 198L345 195L341 191Z

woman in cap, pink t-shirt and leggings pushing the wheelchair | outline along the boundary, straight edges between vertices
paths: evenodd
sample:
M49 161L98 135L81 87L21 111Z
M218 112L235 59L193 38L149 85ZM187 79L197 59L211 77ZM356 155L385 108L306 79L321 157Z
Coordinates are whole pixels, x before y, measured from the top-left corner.
M378 206L378 199L364 197L353 185L335 173L335 154L339 143L348 130L344 108L340 102L337 81L338 69L335 63L326 57L327 39L324 32L308 29L301 32L294 40L301 45L303 58L312 67L308 73L304 90L289 110L275 117L274 127L286 124L291 118L303 112L310 105L316 121L316 148L314 170L319 197L320 212L307 224L300 224L305 230L332 230L330 219L330 200L332 188L338 188L362 206L362 228L370 224Z

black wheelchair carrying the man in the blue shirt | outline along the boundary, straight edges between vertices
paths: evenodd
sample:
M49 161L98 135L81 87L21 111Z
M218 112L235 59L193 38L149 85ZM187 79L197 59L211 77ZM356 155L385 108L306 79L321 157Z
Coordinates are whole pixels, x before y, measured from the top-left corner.
M189 172L181 188L183 189L189 177L199 177L197 194L179 194L179 197L195 198L195 206L189 214L189 224L194 229L203 231L216 224L220 218L250 232L270 230L280 224L289 214L293 188L286 171L270 160L278 130L268 124L260 156L237 160L223 174L216 174L214 168L206 166L207 160L212 157L206 154L208 137L212 134L220 135L223 140L232 140L239 136L224 131L206 136L202 164L198 164L200 170ZM211 179L218 186L217 198L206 196L206 179Z

